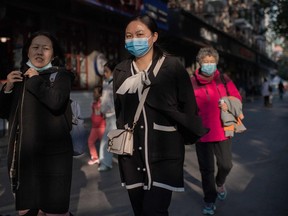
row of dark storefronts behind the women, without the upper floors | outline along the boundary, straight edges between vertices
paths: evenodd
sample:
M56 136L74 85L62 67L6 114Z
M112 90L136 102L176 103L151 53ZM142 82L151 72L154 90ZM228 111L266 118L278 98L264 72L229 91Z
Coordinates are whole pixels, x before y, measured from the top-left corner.
M165 0L51 0L49 4L9 0L0 4L0 38L9 38L0 42L0 79L19 69L21 48L29 34L44 29L53 32L65 50L67 68L77 75L73 89L91 90L101 81L103 62L126 56L124 28L130 17L140 13L156 19L161 31L159 44L181 57L191 74L197 67L198 50L207 45L219 51L220 69L229 73L238 87L257 83L267 68L277 67L266 56L193 14L168 10Z

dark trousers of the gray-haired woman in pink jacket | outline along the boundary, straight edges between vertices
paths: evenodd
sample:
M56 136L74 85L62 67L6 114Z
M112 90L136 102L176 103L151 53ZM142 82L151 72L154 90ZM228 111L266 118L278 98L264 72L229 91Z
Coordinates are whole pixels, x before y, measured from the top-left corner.
M231 139L222 142L196 143L196 153L202 178L204 201L214 203L217 198L216 185L225 183L232 168ZM215 178L215 160L217 174Z

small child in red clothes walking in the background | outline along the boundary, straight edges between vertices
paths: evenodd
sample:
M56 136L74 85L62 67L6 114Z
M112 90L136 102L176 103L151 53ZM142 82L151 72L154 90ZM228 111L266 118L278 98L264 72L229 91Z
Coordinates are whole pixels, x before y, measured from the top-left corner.
M96 149L96 142L101 141L105 131L105 119L101 113L101 95L102 86L96 86L93 91L93 103L91 113L91 130L88 137L88 148L91 159L88 161L89 165L99 164L98 153Z

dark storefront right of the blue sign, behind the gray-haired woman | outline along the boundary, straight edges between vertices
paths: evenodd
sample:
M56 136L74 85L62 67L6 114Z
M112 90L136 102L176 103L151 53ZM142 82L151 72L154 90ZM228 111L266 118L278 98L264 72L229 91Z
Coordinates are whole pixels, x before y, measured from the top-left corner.
M219 69L228 73L237 87L245 91L251 85L261 84L267 70L277 68L268 57L184 10L169 12L169 35L169 43L177 44L170 46L170 51L183 56L188 71L196 69L199 49L213 46L220 54Z

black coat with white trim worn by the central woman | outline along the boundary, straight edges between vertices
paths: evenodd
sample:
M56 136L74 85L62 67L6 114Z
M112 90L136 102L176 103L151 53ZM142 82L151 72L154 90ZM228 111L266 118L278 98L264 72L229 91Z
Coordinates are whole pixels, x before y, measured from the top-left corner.
M116 94L132 75L131 63L125 60L113 72L118 128L127 123L131 127L139 103L138 93ZM156 77L149 71L151 86L134 131L133 156L119 156L122 183L128 189L154 185L183 191L184 144L195 142L207 130L197 116L192 84L180 61L167 56Z

